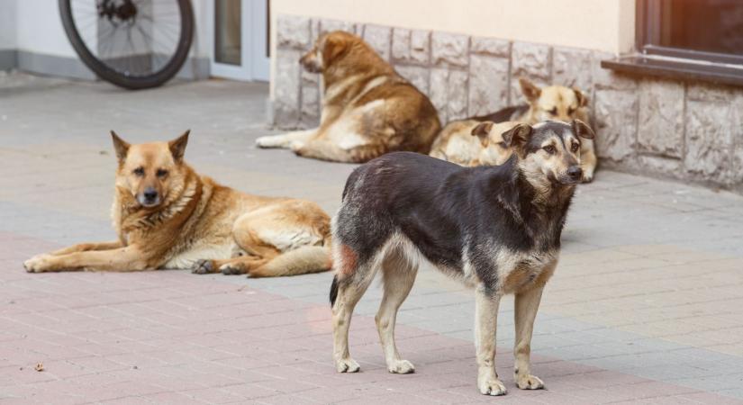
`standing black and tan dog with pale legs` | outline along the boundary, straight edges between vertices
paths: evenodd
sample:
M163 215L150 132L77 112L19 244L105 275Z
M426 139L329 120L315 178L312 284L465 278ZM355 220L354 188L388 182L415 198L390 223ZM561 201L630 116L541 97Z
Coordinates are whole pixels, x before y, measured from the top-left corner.
M418 266L430 262L476 290L477 387L503 395L495 373L498 303L516 298L514 374L519 388L544 384L531 374L530 342L542 289L557 266L560 234L575 184L579 150L593 131L583 121L519 124L503 133L514 155L502 166L467 168L394 153L358 167L333 220L333 356L340 373L357 372L349 323L376 271L385 294L376 327L390 373L412 373L394 344L397 310Z

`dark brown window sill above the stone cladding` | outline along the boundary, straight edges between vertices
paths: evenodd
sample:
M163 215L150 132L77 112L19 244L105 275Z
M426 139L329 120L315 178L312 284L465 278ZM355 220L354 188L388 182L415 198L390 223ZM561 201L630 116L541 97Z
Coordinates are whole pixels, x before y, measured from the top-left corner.
M681 80L701 80L718 85L743 86L743 66L739 65L633 54L602 60L601 67L630 75L661 76Z

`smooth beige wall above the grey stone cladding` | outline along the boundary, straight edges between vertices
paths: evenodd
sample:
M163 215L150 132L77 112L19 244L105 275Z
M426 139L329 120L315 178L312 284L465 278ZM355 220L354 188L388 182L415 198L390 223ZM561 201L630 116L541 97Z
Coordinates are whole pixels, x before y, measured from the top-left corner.
M274 28L294 14L612 53L635 38L635 0L271 0L271 14Z

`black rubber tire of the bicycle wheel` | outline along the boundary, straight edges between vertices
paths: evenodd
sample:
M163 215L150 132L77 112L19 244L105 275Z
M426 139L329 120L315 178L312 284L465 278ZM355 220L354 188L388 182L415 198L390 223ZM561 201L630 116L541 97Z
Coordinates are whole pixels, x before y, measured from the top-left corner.
M85 41L80 37L79 31L77 31L70 0L59 0L59 14L72 48L75 49L86 67L92 70L96 76L113 85L130 90L140 90L165 84L173 76L176 76L180 68L186 63L191 43L194 40L194 9L190 0L177 0L177 4L181 14L181 31L176 52L162 68L148 76L124 75L122 72L107 66L100 59L95 58L95 55L87 48Z

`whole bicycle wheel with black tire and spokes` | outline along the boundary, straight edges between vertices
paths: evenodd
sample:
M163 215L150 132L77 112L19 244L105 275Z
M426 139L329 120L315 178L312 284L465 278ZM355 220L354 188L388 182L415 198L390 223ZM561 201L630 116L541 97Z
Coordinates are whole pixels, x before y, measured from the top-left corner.
M194 36L190 0L59 0L59 14L86 66L128 89L175 76Z

